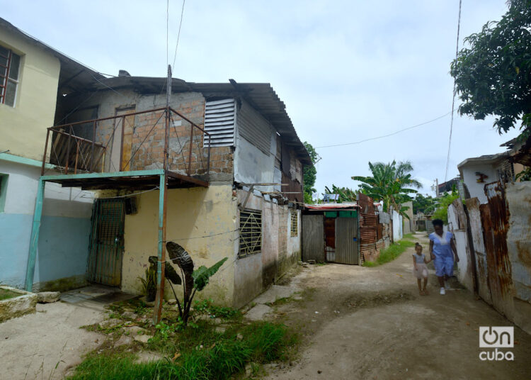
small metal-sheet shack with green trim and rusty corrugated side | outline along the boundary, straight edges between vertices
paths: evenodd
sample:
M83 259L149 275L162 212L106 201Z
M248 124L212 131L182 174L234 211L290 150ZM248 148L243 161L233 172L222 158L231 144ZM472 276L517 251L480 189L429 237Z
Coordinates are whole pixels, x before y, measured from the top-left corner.
M304 205L302 259L361 265L391 242L389 214L358 194L355 203Z

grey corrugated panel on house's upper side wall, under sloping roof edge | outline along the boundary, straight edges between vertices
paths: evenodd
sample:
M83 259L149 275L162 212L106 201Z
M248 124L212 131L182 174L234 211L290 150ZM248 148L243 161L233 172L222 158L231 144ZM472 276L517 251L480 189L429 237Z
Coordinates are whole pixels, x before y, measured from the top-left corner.
M241 102L236 123L238 125L238 134L241 137L258 147L266 155L270 154L273 127L245 101Z

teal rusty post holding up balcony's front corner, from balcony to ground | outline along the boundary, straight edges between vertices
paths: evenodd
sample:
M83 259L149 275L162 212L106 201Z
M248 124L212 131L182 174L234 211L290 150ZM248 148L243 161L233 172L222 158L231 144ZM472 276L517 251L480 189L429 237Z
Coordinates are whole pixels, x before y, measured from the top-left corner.
M162 313L162 302L164 301L164 267L166 263L166 195L167 182L166 173L161 174L159 184L159 244L157 245L156 263L156 298L153 311L153 323L159 323Z

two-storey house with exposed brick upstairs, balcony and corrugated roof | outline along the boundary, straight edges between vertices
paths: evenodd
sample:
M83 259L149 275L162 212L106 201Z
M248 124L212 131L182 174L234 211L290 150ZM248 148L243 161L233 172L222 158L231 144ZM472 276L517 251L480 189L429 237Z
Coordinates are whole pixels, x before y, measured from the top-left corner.
M200 296L239 307L300 259L302 168L311 161L270 84L120 70L61 96L55 121L42 147L61 173L43 175L38 188L92 192L87 281L139 294L149 256L171 240L196 267L227 257ZM36 223L33 237L42 239Z

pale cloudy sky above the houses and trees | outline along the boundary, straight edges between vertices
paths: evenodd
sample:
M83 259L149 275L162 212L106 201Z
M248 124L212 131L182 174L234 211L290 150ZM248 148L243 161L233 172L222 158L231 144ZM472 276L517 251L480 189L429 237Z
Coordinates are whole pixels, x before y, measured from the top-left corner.
M181 0L169 4L173 62ZM299 138L321 160L316 189L356 188L367 162L411 160L430 185L445 177L450 116L392 137L355 143L451 111L459 0L185 2L173 76L189 82L268 82ZM166 1L7 1L1 17L108 74L166 75ZM505 0L463 0L462 38L499 20ZM503 151L492 119L456 114L448 179L467 157Z

